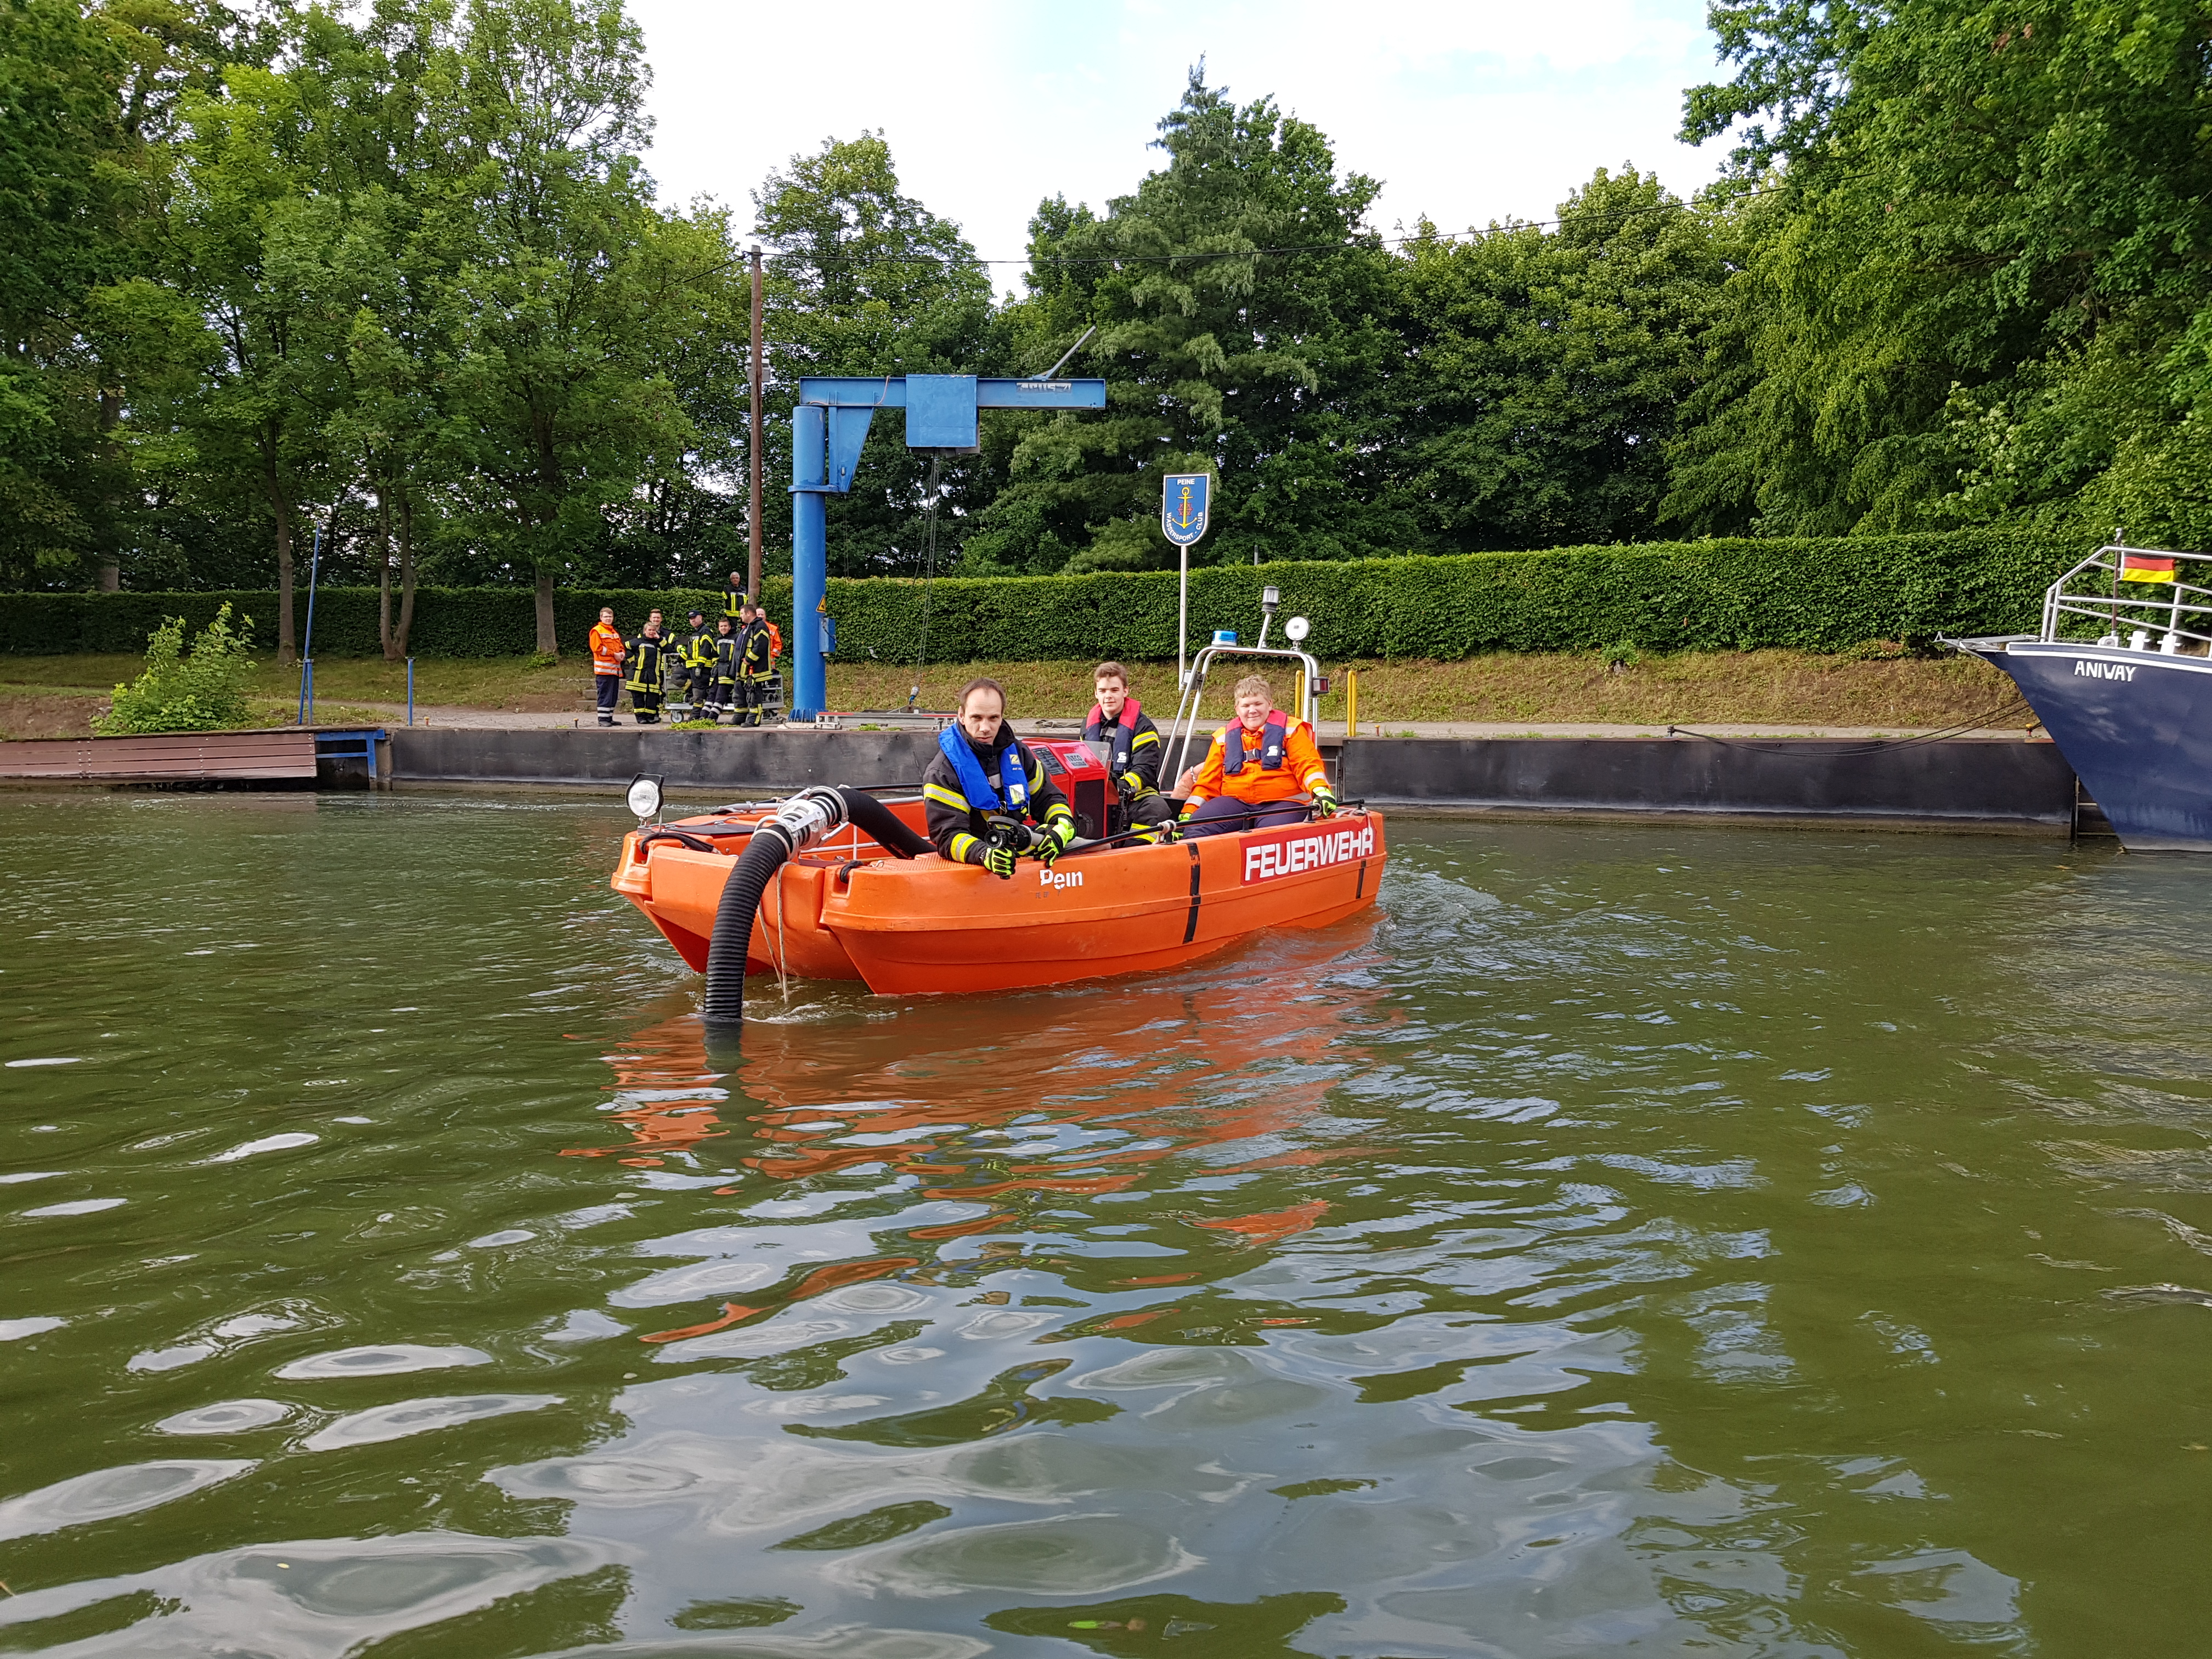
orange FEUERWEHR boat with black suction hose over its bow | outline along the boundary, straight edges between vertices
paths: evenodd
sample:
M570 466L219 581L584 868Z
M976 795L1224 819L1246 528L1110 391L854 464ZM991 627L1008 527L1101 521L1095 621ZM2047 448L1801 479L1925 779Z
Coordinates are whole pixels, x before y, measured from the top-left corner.
M1064 772L1099 765L1082 743L1033 748L1057 750ZM1013 880L940 858L920 827L920 799L805 790L779 807L635 830L613 887L708 973L708 1024L734 1024L743 973L907 995L1172 969L1252 933L1352 916L1374 902L1385 860L1383 818L1365 810L1170 845L1079 845Z

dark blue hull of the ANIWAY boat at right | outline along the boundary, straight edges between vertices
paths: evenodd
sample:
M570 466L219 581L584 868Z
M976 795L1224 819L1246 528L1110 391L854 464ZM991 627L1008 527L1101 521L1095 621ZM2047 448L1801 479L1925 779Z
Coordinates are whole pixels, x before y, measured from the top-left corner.
M2037 639L1975 646L2028 699L2130 852L2212 852L2212 659Z

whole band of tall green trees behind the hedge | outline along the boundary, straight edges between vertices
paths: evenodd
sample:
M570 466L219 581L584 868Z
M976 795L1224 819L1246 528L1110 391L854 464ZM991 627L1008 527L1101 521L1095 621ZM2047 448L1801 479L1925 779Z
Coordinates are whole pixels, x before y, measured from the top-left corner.
M1194 469L1199 566L1995 524L2212 544L2203 0L1710 24L1734 77L1688 93L1683 135L1739 148L1697 201L1628 166L1557 223L1385 237L1329 135L1192 73L1157 170L1042 201L1000 301L883 133L794 155L750 230L659 206L626 0L0 0L0 584L272 584L285 650L321 531L325 584L389 577L389 655L458 648L462 615L504 639L491 599L427 591L447 633L411 639L418 582L535 584L538 650L588 619L555 588L714 588L748 542L748 237L768 571L801 376L1035 374L1088 327L1066 372L1106 378L1104 411L991 411L980 453L938 458L878 420L830 571L1168 568L1159 480ZM902 626L847 646L911 655ZM931 655L975 648L940 626Z

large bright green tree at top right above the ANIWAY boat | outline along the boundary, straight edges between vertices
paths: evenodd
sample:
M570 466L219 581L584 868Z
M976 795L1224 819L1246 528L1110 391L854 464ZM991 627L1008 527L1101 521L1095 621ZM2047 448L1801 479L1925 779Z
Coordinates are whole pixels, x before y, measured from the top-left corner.
M1714 4L1747 263L1670 522L2212 538L2201 0Z

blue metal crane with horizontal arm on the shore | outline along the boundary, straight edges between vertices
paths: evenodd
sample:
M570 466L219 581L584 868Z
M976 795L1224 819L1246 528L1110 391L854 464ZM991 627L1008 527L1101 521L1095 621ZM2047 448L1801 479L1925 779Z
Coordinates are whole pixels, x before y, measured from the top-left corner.
M1104 380L993 380L973 374L823 374L792 409L792 719L823 710L827 498L852 489L876 409L907 411L907 449L975 453L978 409L1104 409Z

